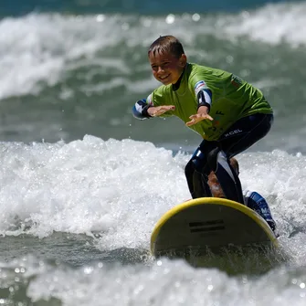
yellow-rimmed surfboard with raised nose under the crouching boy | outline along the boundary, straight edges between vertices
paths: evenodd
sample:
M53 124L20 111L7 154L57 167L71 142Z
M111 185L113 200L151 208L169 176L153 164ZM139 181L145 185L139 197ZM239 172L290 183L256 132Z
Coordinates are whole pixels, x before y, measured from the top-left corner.
M160 218L151 235L151 253L163 256L196 249L250 245L277 247L277 237L258 213L237 202L203 197L174 206Z

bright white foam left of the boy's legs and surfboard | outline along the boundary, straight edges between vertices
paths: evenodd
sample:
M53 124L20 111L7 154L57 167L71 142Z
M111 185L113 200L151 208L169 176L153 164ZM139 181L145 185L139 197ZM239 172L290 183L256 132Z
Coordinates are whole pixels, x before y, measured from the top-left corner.
M99 232L108 248L135 247L188 196L184 158L151 142L2 142L0 161L4 235Z

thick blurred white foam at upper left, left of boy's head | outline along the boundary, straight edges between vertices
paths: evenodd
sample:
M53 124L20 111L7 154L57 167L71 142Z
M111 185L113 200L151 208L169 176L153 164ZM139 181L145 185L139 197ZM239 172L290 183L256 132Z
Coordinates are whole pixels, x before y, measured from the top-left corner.
M120 18L112 16L60 16L30 14L0 21L0 99L37 94L65 78L65 72L95 62L95 54L124 37ZM127 30L127 29L126 29ZM96 60L97 62L97 60ZM120 58L101 58L100 66Z

